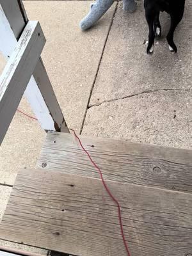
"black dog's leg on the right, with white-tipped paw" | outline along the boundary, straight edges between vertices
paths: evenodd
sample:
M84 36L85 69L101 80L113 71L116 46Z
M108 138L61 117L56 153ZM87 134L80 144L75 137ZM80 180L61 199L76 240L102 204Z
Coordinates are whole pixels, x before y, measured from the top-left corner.
M182 20L182 15L171 15L171 26L170 26L170 31L168 33L168 35L166 36L166 39L168 41L169 44L169 49L171 52L177 52L177 46L175 45L174 41L173 41L173 35L174 35L174 31L175 28L177 28L177 25L179 24L180 20Z

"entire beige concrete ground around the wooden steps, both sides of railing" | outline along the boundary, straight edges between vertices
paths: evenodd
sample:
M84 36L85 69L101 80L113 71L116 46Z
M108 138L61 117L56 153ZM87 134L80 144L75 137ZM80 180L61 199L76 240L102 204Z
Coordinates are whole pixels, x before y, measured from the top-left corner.
M178 53L168 51L169 19L163 13L163 38L153 56L143 45L148 35L143 1L132 14L123 12L122 3L115 12L115 3L83 33L78 24L90 3L24 1L29 19L40 21L47 38L42 58L68 127L88 136L191 148L190 0L175 33ZM33 115L26 100L19 108ZM0 147L0 184L8 185L0 185L0 219L18 169L35 167L44 138L38 122L15 114Z

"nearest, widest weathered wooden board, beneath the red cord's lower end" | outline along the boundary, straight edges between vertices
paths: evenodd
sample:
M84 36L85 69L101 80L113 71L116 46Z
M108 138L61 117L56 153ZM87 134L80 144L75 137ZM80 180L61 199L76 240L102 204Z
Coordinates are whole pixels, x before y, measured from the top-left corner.
M192 195L108 181L132 256L191 252ZM78 256L125 256L117 209L98 179L22 170L0 238Z

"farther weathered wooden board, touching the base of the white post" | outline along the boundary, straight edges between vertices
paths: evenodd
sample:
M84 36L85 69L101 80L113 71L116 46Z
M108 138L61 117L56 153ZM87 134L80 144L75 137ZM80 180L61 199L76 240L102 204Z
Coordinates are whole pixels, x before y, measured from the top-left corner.
M192 191L192 150L81 136L105 179L143 186ZM45 164L43 164L45 163ZM99 177L73 134L49 132L38 168Z

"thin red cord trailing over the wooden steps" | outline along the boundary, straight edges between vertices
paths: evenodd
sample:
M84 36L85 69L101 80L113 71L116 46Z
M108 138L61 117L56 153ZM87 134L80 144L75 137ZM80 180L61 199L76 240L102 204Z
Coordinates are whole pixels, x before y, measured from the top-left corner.
M25 116L28 116L29 118L33 119L33 120L37 120L37 118L33 117L33 116L29 116L28 114L20 111L19 109L17 109L17 111L19 111L19 113L22 113ZM118 202L118 200L116 200L115 196L113 196L113 194L111 193L110 189L108 188L108 185L106 184L106 181L104 180L104 177L102 175L102 172L99 168L99 166L93 161L92 157L90 156L90 154L88 153L88 151L84 148L80 138L77 136L76 132L73 129L69 129L70 131L74 132L74 136L76 137L76 139L79 141L79 145L81 146L81 148L83 149L83 151L86 153L86 155L88 156L88 158L90 159L90 161L92 162L93 166L98 170L99 175L100 175L100 179L102 181L102 184L104 186L104 188L106 189L108 195L111 197L111 199L113 200L113 202L115 202L117 208L118 208L118 221L119 221L119 225L120 225L120 230L121 230L121 235L122 235L122 239L124 241L124 246L125 246L125 250L127 252L127 256L131 256L131 253L129 252L129 248L127 245L127 241L125 239L125 235L124 235L124 227L122 224L122 214L121 214L121 207L120 204Z

